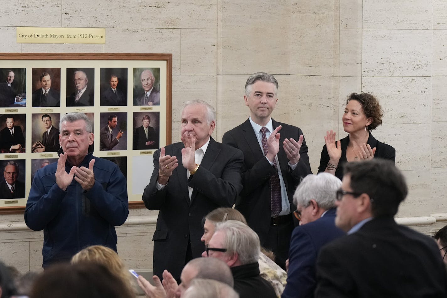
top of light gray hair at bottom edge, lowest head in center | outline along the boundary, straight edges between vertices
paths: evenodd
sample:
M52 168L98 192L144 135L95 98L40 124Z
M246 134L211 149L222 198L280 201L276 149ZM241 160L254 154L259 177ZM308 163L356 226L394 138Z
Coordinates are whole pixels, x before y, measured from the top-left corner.
M239 294L219 281L206 278L195 278L183 294L184 298L239 298Z

